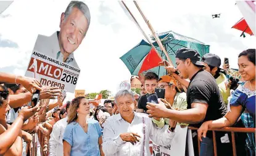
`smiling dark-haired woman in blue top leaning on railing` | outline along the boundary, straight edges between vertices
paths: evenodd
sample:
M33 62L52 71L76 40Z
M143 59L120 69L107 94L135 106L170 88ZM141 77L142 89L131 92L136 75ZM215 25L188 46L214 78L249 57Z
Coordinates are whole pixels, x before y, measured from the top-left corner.
M204 122L198 130L198 137L206 136L208 128L231 127L242 112L241 119L247 128L255 128L255 49L248 49L238 56L239 73L246 82L236 88L230 100L230 110L225 117ZM203 134L203 135L202 135ZM255 155L254 133L247 133L250 155Z

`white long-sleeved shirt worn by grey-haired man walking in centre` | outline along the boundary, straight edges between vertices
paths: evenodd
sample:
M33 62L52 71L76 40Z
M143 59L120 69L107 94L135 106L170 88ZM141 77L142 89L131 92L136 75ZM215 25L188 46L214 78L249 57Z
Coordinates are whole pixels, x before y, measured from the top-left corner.
M137 133L141 138L136 144L125 142L120 138L121 133ZM118 156L147 156L151 155L149 150L149 138L162 146L171 144L175 133L168 130L163 131L155 127L147 114L134 112L131 123L122 119L120 114L112 115L105 121L103 130L102 150L105 155Z

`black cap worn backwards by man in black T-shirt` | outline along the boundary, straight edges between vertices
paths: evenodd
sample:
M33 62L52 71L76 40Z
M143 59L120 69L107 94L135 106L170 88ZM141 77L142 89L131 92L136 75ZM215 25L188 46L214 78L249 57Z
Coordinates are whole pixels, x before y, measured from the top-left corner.
M199 53L194 49L182 48L177 50L176 58L187 59L189 58L193 64L204 67L204 64L200 61Z

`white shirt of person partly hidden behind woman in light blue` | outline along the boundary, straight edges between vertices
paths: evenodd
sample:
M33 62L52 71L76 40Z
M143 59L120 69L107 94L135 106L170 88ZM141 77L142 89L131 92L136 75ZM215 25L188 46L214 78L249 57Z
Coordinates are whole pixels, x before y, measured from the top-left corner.
M53 128L49 140L49 155L50 156L63 156L63 135L67 127L67 117L57 121Z

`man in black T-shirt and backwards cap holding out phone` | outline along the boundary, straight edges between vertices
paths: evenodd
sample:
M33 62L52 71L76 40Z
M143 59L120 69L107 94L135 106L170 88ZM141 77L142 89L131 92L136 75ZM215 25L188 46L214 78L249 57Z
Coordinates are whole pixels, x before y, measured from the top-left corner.
M180 76L189 79L187 91L188 109L176 111L167 109L164 104L147 104L147 113L151 117L165 117L181 123L195 124L194 127L208 120L216 120L226 114L225 104L218 89L214 77L202 69L204 64L200 62L200 55L196 50L180 49L176 53L176 65ZM213 154L212 138L207 135L200 146L200 155ZM209 143L210 142L210 143ZM205 145L204 144L204 145Z

